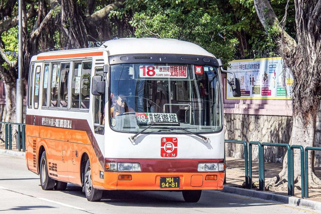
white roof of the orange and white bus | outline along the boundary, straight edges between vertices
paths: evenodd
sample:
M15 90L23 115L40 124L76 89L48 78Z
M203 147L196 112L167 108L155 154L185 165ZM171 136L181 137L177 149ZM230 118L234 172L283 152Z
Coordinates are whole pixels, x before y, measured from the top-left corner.
M207 52L204 48L195 45L190 42L181 41L177 39L159 39L159 38L120 38L106 41L100 47L95 48L82 48L62 51L50 51L37 55L60 55L60 54L77 54L77 53L89 53L97 51L108 51L108 55L117 54L192 54L211 56L213 54ZM59 57L60 58L60 57ZM32 61L35 61L36 56L32 57Z

